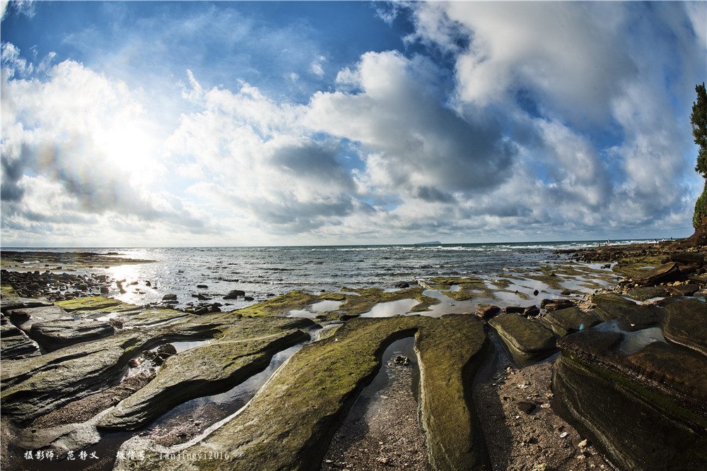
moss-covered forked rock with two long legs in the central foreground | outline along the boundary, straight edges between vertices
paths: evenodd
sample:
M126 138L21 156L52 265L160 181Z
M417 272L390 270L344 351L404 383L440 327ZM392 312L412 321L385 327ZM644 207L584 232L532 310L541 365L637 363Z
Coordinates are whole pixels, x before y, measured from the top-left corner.
M331 337L304 345L240 414L184 453L228 453L228 461L194 467L310 470L320 466L338 424L380 367L391 342L416 333L421 369L420 413L431 462L439 469L490 469L470 403L471 379L485 344L471 316L354 318ZM146 451L146 460L120 459L116 470L170 469L144 438L121 450Z

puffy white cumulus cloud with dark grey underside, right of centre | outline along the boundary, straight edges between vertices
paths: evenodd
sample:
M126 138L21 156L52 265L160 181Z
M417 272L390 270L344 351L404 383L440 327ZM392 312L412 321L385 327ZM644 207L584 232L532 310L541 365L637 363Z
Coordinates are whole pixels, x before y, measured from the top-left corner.
M317 93L307 122L358 141L366 157L361 181L371 191L425 200L452 199L506 178L514 149L493 119L469 120L444 106L427 59L397 52L364 54L339 76L344 90Z

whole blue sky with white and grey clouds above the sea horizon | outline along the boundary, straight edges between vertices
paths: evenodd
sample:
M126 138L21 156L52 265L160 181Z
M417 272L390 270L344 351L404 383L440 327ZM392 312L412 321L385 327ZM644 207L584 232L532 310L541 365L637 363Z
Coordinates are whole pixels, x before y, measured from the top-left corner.
M2 2L1 245L687 237L707 2Z

